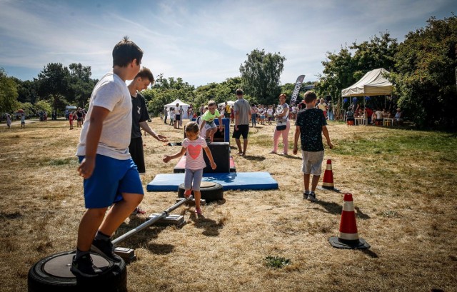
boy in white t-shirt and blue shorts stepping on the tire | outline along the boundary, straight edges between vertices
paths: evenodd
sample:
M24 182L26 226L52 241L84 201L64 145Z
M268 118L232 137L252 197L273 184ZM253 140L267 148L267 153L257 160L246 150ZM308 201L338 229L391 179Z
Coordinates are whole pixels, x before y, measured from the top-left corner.
M144 196L129 153L132 106L125 83L138 74L142 58L143 51L125 37L114 46L113 71L92 91L76 150L87 210L79 223L76 256L70 268L75 275L94 277L101 273L92 264L90 251L110 261L121 261L113 251L111 235Z

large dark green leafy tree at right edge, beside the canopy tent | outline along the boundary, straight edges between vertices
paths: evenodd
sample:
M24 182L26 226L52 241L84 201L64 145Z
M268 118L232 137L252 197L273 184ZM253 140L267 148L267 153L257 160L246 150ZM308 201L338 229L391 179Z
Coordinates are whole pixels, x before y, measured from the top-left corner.
M419 128L456 131L457 16L427 23L398 46L391 80L398 106Z

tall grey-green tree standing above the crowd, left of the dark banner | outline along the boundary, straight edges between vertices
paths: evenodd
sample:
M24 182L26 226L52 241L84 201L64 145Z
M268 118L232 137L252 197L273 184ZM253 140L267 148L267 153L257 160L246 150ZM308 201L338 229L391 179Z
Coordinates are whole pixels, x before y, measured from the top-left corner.
M281 91L279 78L286 57L255 49L246 54L248 59L240 66L243 91L262 104L275 102Z

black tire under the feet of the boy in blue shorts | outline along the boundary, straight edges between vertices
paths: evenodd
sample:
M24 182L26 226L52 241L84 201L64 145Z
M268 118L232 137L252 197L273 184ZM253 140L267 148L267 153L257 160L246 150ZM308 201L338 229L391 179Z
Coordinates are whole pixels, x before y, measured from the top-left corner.
M94 264L103 272L94 278L76 277L70 271L74 253L75 251L56 253L35 263L29 270L28 291L127 291L127 267L124 260L114 263L91 253Z

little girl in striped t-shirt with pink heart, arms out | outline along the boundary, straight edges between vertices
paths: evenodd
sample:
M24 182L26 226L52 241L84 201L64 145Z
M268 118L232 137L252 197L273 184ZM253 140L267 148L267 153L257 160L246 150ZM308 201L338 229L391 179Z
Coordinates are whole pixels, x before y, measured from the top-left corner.
M189 198L189 196L191 196L191 191L194 191L195 213L201 215L200 183L201 178L203 177L203 168L206 167L202 150L206 152L206 156L208 156L209 161L211 162L211 168L216 169L216 163L214 163L211 150L209 150L205 139L199 136L199 125L194 121L190 121L186 124L184 131L186 132L187 138L183 141L181 151L171 156L166 155L164 157L164 162L167 163L171 161L171 159L179 158L186 153L186 170L184 171L184 188L186 191L184 191L184 196Z

